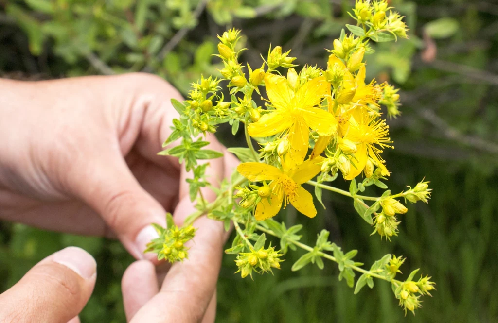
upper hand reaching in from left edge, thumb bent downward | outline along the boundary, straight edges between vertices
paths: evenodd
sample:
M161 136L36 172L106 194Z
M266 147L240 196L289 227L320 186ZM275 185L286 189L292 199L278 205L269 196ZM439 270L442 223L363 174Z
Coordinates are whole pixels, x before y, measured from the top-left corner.
M142 259L145 244L156 237L150 223L165 226L165 213L173 209L176 218L194 211L178 161L157 156L177 117L170 99L181 100L162 79L1 80L0 89L0 218L116 234ZM210 149L225 150L214 137L209 141ZM226 152L212 160L212 184L236 163Z

